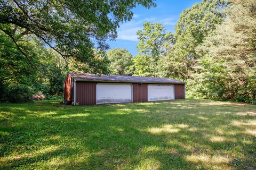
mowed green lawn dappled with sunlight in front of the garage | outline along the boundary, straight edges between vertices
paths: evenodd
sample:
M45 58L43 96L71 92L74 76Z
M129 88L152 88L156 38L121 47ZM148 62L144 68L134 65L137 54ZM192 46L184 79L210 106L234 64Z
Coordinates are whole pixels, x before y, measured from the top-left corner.
M0 169L255 169L256 106L1 104Z

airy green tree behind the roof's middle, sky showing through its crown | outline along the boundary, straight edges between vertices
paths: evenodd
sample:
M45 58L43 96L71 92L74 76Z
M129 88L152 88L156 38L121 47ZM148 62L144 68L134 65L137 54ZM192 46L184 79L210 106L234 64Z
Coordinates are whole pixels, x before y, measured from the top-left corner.
M172 33L166 32L161 23L146 22L137 35L139 55L133 58L134 75L159 77L158 62L165 54L166 46L173 43Z

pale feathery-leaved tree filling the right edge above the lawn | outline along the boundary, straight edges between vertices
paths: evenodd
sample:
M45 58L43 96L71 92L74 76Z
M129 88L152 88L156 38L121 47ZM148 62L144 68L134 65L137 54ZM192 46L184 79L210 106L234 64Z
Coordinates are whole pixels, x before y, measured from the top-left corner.
M228 17L197 48L196 83L215 99L256 101L256 3L230 0Z

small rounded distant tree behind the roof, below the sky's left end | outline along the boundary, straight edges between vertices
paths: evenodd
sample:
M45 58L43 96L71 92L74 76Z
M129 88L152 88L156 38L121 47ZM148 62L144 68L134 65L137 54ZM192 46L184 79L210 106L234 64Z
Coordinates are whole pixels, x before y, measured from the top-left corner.
M131 75L130 66L132 65L132 54L124 48L110 49L107 53L110 60L111 74Z

